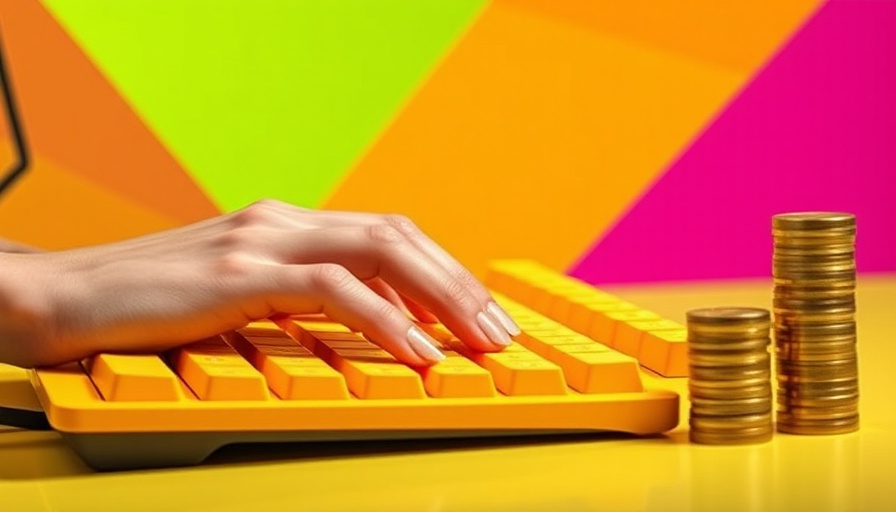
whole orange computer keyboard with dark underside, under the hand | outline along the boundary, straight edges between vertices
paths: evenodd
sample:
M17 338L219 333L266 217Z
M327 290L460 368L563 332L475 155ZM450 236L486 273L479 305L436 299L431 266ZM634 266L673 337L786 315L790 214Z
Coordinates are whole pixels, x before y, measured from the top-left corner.
M36 369L32 383L53 428L97 469L197 464L245 442L677 426L678 395L645 388L636 358L675 369L682 343L668 333L679 327L534 262L496 262L487 282L523 330L498 353L423 324L447 358L413 368L324 316L297 316L165 354Z

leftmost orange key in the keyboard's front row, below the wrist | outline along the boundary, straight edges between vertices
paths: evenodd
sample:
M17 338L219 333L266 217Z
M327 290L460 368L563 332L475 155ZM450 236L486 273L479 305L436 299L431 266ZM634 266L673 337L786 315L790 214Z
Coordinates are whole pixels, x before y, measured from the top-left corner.
M166 401L183 397L174 372L156 355L99 354L85 362L106 400Z

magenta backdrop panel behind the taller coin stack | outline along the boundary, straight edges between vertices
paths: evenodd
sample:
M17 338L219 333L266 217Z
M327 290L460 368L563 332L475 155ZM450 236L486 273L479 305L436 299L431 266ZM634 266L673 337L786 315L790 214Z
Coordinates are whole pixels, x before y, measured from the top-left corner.
M570 269L591 282L768 276L771 220L849 211L896 270L896 2L825 5Z

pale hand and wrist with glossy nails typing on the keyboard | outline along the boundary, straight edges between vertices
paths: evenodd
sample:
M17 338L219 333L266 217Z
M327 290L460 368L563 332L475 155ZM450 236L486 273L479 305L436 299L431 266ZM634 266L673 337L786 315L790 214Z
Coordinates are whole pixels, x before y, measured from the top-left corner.
M485 287L409 219L261 201L231 214L67 251L0 241L0 362L162 352L253 320L325 313L414 366L444 356L416 322L470 348L519 334Z

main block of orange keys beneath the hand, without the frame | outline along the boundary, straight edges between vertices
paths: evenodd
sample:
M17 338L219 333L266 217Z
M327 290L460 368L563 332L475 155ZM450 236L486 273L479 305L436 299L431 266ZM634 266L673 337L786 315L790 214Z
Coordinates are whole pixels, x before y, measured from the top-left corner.
M84 363L111 401L419 399L622 393L643 390L634 359L503 299L523 334L505 350L470 350L440 325L422 325L445 361L412 368L325 318L254 322L155 355L100 354ZM167 364L166 364L167 361Z

